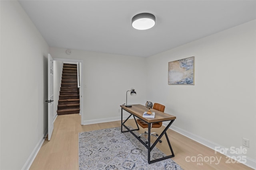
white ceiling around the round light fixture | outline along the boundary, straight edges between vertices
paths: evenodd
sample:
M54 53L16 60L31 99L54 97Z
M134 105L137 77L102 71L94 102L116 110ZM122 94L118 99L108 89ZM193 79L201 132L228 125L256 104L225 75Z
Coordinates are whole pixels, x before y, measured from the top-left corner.
M256 19L255 0L21 0L50 47L148 57ZM131 26L148 12L156 25Z

